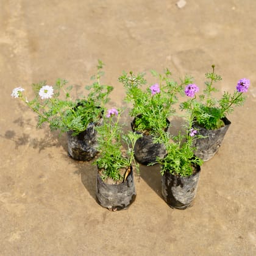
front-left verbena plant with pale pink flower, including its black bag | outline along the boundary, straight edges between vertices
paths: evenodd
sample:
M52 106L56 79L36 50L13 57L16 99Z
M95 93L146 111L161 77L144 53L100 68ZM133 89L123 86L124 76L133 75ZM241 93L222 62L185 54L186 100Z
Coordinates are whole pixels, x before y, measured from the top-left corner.
M110 108L104 113L102 125L96 127L99 135L99 155L94 161L98 166L96 199L112 211L126 209L136 197L132 163L138 169L133 148L140 135L131 131L124 133L120 116L120 110Z

